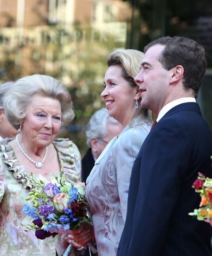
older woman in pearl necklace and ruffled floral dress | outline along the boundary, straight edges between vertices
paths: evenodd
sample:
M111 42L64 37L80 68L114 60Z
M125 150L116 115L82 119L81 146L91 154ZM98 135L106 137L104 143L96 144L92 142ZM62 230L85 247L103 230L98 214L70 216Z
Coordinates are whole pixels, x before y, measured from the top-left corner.
M59 235L39 240L20 222L32 221L22 212L32 189L25 173L55 183L54 174L63 168L67 182L81 178L77 146L69 140L54 141L59 129L74 118L71 96L60 81L34 74L19 79L6 93L4 110L19 134L0 145L0 254L53 256L57 251L63 255L64 243L56 243Z

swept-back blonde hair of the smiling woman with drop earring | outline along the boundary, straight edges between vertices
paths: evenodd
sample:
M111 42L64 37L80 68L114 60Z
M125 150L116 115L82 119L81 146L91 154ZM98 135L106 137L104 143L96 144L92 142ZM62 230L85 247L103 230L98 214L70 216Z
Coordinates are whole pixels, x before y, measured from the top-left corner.
M141 62L144 58L144 53L134 49L116 49L114 52L109 54L107 64L108 67L116 65L122 67L123 78L128 81L132 86L138 86L134 78L141 71ZM138 100L139 106L141 99ZM138 108L137 113L133 117L130 123L132 123L137 116L148 118L151 122L155 120L155 115L147 108Z

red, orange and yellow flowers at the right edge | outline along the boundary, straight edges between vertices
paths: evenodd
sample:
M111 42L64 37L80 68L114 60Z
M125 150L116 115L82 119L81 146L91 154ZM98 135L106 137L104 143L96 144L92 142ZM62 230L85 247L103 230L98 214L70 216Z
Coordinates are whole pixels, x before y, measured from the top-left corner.
M199 209L194 209L188 215L197 216L199 221L209 222L212 226L212 178L205 177L199 173L198 178L192 186L201 196Z

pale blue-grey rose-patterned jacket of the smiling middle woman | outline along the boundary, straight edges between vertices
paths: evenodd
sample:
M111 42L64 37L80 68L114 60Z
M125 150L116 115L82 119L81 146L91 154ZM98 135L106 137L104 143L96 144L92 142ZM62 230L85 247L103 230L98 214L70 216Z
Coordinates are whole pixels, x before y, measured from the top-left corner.
M127 215L131 170L151 128L135 120L112 139L86 180L85 197L92 215L98 256L116 256Z

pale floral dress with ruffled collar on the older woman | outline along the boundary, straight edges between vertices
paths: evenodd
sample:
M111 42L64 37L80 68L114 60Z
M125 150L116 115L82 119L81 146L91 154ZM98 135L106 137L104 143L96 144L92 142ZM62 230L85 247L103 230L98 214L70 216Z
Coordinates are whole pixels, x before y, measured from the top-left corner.
M0 145L0 256L55 256L56 250L58 256L63 255L65 248L59 235L39 240L34 230L25 232L20 225L32 221L22 212L32 184L23 175L26 169L16 158L13 148L5 141L3 143ZM57 139L53 144L67 183L80 181L81 156L77 146L64 139ZM57 183L52 173L33 176L45 183Z

